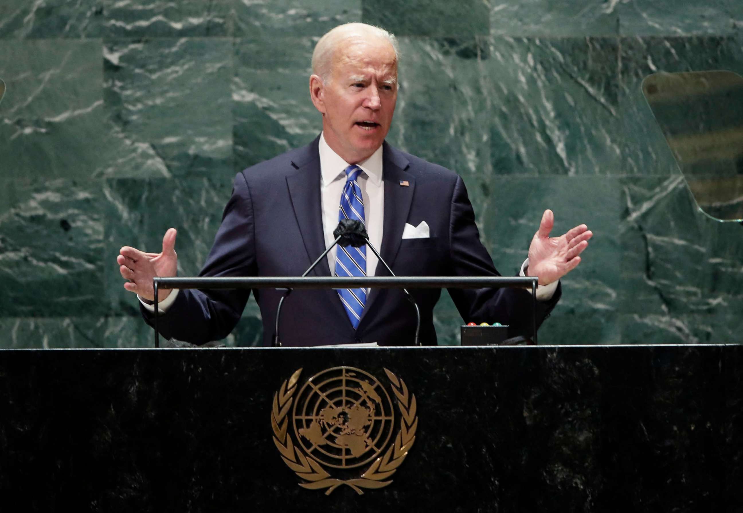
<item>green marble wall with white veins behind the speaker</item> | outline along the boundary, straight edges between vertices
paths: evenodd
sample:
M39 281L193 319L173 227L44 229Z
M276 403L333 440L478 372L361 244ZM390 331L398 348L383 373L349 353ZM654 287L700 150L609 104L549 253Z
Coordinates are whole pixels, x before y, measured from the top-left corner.
M358 20L400 37L389 141L464 177L502 272L545 207L594 230L540 341L741 340L743 228L695 213L639 88L743 74L740 0L4 0L0 346L149 346L118 248L174 225L195 274L234 173L319 132L314 42ZM227 343L259 331L250 303Z

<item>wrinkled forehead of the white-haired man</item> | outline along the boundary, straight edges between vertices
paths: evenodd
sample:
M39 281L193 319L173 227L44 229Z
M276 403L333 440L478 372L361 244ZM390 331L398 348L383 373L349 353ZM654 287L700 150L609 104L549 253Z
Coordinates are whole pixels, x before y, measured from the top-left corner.
M358 71L398 76L398 59L395 48L382 38L349 37L340 42L333 56L333 71L349 74Z

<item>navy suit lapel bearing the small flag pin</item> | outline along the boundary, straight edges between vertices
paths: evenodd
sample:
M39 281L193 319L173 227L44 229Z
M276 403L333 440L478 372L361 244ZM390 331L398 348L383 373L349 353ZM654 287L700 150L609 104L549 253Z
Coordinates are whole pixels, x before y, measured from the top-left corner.
M415 191L415 178L405 170L409 167L408 159L398 149L384 143L383 145L383 172L384 182L384 226L382 231L382 247L377 248L380 255L390 268L395 264L395 258L400 249L400 240L403 237L405 222L408 219L410 205ZM407 186L400 185L406 181ZM377 264L375 276L389 276L389 272L382 262ZM366 314L371 311L374 300L380 295L379 288L372 288L366 298L366 308L359 322L363 326Z

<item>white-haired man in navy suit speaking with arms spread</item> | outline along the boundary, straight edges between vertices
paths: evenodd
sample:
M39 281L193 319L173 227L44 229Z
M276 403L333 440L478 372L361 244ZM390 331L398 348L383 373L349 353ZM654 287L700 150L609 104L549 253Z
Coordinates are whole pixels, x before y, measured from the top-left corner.
M236 175L233 194L200 276L298 276L334 239L339 219L366 223L370 242L398 276L497 276L481 245L464 183L454 172L384 142L398 95L398 52L385 30L363 24L334 28L315 48L310 95L322 114L322 133L308 146ZM340 207L340 208L339 208ZM577 226L551 238L550 210L542 216L522 271L538 276L539 322L559 299L559 278L575 268L591 232ZM117 257L151 323L152 277L175 276L175 229L163 251L124 247ZM366 246L337 249L316 276L389 274ZM332 271L332 272L331 272ZM542 286L544 285L544 286ZM249 291L160 291L160 329L192 343L224 338L239 320ZM255 291L264 342L273 339L279 291ZM414 290L421 341L435 344L432 311L440 290ZM467 321L510 324L528 332L531 292L450 290ZM296 290L282 316L285 346L377 342L412 343L415 314L397 289Z

